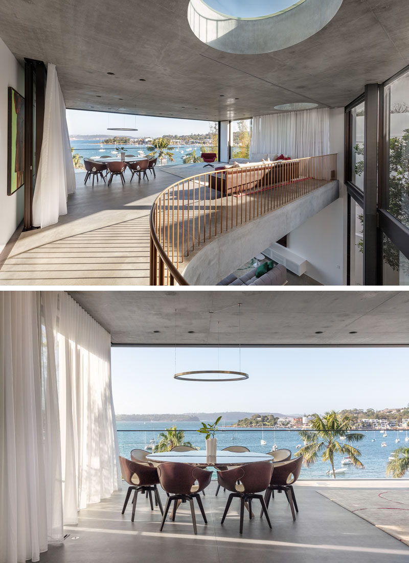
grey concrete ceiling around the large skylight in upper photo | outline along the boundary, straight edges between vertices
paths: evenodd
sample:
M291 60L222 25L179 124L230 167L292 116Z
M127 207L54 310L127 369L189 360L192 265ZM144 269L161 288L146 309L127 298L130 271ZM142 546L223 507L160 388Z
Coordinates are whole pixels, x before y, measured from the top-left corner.
M345 106L364 84L409 64L407 0L344 0L313 37L264 55L201 43L188 3L1 2L0 37L20 61L56 64L68 108L206 120L268 114L290 102Z

